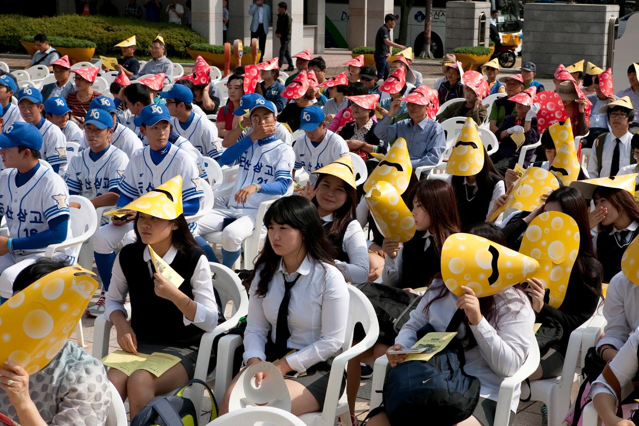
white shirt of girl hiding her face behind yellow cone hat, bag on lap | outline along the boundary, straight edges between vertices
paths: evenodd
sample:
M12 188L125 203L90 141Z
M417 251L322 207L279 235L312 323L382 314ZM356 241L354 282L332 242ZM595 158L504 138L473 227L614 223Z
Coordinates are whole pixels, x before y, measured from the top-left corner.
M417 331L429 322L435 331L445 331L452 315L457 310L457 296L447 291L442 299L434 301L424 313L426 304L439 294L442 280L434 280L431 288L424 294L417 308L410 313L410 319L397 334L395 343L412 347L417 342ZM638 287L638 286L635 286ZM639 288L639 287L638 287ZM503 290L495 297L496 315L491 322L482 318L476 326L470 326L477 346L465 351L466 374L474 375L481 382L480 395L497 401L499 387L505 377L521 368L532 345L537 340L532 333L535 313L528 298L512 287ZM497 319L498 324L495 323ZM457 329L456 338L465 337L465 327ZM511 410L516 412L519 404L520 385L512 394Z

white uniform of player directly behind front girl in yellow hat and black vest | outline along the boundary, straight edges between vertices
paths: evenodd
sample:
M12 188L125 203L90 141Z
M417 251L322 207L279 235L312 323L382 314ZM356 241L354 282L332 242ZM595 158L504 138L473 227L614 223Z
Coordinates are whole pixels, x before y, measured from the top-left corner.
M168 149L169 152L157 165L151 160L150 146L144 146L135 152L129 159L128 166L120 179L118 185L120 193L135 199L176 175L180 175L182 177L183 201L204 196L194 159L186 150L178 148L172 143L167 143L165 149ZM196 232L197 223L190 223L189 228L191 232ZM133 223L122 226L109 223L101 226L95 233L93 249L96 253L108 254L114 251L118 252L125 245L134 241Z

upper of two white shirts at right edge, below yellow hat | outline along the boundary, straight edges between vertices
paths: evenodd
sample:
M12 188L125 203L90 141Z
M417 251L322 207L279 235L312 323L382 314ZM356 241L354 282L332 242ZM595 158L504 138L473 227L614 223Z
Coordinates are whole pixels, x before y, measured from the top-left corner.
M599 354L603 345L621 349L630 333L639 327L639 285L629 281L623 272L610 280L603 304L603 316L607 324L604 336L597 342Z

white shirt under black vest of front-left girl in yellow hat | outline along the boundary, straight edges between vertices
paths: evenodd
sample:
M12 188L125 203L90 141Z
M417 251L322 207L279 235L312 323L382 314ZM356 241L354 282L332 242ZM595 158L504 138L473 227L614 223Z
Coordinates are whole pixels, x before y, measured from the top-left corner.
M173 262L178 250L171 246L169 251L166 252L162 259L167 264ZM151 260L149 249L144 249L142 255L144 262ZM149 271L152 276L151 271ZM217 302L215 301L215 294L213 293L213 281L211 280L211 269L208 265L206 256L202 255L197 262L196 269L191 277L191 288L193 290L193 299L196 304L196 315L191 321L187 317L183 316L183 322L185 326L189 324L195 324L204 331L213 331L217 326L218 313ZM117 310L124 313L127 316L127 311L124 308L124 304L127 300L128 283L124 276L122 267L119 264L119 253L116 257L116 262L113 264L113 275L111 277L111 285L109 285L109 291L106 295L105 312L104 315L109 318L111 314ZM135 309L134 306L131 307Z

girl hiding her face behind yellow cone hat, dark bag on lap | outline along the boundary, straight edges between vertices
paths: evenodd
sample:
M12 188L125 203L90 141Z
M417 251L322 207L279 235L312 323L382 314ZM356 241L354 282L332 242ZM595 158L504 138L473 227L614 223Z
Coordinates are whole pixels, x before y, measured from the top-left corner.
M495 225L481 223L468 231L505 245L504 233ZM435 327L435 331L444 331L454 313L463 309L466 315L457 329L456 338L461 339L465 347L464 370L466 374L479 379L481 390L473 415L457 425L493 426L500 384L505 377L521 368L529 348L537 344L532 334L535 315L521 288L509 287L495 296L481 299L475 296L472 289L462 288L465 294L455 296L443 285L441 276L435 278L389 351L412 347L417 342L417 331L427 322ZM404 354L389 352L387 356L391 367L406 358ZM510 425L514 423L519 397L520 389L516 388L511 401ZM380 413L371 418L367 425L390 426L390 423L387 415Z

